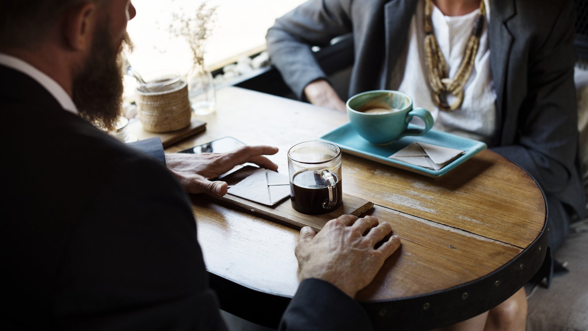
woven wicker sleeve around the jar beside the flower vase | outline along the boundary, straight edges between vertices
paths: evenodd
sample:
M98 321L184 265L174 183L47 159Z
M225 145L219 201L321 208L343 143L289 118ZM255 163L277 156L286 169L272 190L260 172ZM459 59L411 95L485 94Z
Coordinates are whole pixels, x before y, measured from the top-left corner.
M192 109L188 99L188 84L181 81L169 91L137 91L137 111L143 129L150 132L170 132L190 125Z

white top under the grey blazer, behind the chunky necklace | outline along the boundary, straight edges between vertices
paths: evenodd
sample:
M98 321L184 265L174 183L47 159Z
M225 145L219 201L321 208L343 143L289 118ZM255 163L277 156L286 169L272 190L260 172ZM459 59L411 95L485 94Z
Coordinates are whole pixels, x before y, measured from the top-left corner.
M389 88L409 95L413 99L415 107L429 110L435 119L433 129L487 143L492 140L496 132L496 93L492 86L492 72L490 71L490 48L487 32L490 7L487 0L485 0L485 5L486 21L482 36L480 36L480 46L472 73L464 87L464 99L460 108L453 112L439 111L433 103L433 90L430 88L425 63L424 0L419 1L416 14L410 22L408 38L396 63ZM467 40L472 34L479 12L480 9L476 9L463 16L445 16L433 4L431 15L433 31L449 67L449 78L455 77L455 73L462 63ZM451 103L452 101L453 96L449 93L447 102ZM415 118L413 122L419 121L420 119Z

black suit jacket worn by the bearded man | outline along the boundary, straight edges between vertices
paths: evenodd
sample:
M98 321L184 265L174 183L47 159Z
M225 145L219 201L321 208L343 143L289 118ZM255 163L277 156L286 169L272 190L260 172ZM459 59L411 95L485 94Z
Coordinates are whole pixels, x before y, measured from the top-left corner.
M0 66L0 77L0 327L226 329L191 203L165 164L65 111L23 73ZM358 303L309 279L282 329L317 326L370 328Z

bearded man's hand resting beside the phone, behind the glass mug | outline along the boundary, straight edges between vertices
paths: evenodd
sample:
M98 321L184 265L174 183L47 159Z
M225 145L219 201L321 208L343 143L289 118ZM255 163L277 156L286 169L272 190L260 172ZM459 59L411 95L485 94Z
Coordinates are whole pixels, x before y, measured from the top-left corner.
M188 193L223 196L228 189L227 183L220 180L211 182L209 179L246 162L276 171L278 165L263 156L275 153L278 153L278 148L271 146L243 146L228 153L170 153L165 155L165 163Z

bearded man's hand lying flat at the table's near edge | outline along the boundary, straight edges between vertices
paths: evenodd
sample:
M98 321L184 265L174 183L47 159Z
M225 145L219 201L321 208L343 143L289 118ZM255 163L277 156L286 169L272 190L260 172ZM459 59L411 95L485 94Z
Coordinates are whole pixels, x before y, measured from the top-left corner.
M305 226L300 229L295 249L298 279L326 280L355 297L372 282L384 260L400 247L399 236L387 238L391 233L389 223L378 223L372 216L358 219L343 215L329 220L318 234Z

